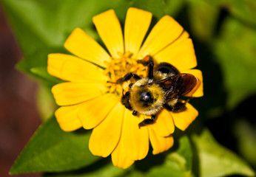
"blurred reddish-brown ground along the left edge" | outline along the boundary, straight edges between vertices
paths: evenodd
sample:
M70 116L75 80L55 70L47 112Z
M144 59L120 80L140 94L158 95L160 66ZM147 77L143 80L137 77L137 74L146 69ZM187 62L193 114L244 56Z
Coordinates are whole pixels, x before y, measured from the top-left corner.
M10 167L41 123L36 109L35 80L15 65L21 50L0 7L0 176ZM16 176L40 176L39 173Z

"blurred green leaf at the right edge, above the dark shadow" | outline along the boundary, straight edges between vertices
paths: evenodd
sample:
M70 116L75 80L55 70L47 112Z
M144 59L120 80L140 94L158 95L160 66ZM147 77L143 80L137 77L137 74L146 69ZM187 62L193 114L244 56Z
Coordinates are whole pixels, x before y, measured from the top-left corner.
M213 52L223 72L229 108L256 93L255 48L256 31L227 18Z

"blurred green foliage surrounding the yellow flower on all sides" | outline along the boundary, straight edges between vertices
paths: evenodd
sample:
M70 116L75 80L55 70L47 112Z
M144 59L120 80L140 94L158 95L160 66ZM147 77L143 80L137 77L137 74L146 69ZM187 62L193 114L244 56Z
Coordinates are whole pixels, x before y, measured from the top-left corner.
M129 170L120 170L112 167L109 163L110 159L92 157L88 150L84 150L85 142L89 138L87 131L63 133L52 117L27 145L27 149L13 166L13 174L51 172L44 176L166 176L169 173L172 176L254 176L256 1L1 0L0 2L24 56L16 68L40 80L36 102L43 120L51 117L57 108L50 88L61 82L47 74L47 55L54 52L68 53L63 44L75 27L81 27L102 44L92 24L92 16L104 10L114 9L121 24L124 24L129 7L152 12L153 23L163 15L171 15L189 32L198 58L197 68L203 72L204 80L204 97L191 101L199 111L198 118L185 133L175 131L177 147L166 153L158 156L148 155L141 162L136 162ZM38 150L36 147L41 145L41 141L50 136L47 131L55 132L58 137L49 139L45 145L43 143L42 147L47 150ZM60 137L69 140L62 141ZM54 146L55 150L53 150L50 148L51 142L56 141L59 145ZM85 142L79 143L81 141ZM70 142L73 145L67 147ZM71 153L72 156L81 156L79 152L83 152L84 156L87 156L87 161L70 159L62 166L54 164L58 158L64 159L64 155L59 153L61 149L73 148L76 148L76 153ZM41 156L31 158L31 154L41 154ZM52 157L53 154L55 159ZM41 164L36 166L37 162ZM81 167L83 167L81 170L76 171ZM65 170L73 171L62 173Z

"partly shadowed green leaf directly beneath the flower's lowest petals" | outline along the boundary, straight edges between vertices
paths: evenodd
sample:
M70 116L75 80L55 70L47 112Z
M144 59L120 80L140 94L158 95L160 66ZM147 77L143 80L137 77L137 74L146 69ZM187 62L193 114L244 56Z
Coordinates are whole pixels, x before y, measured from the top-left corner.
M172 149L171 149L172 150ZM149 152L150 153L150 152ZM115 167L110 159L103 159L81 170L68 173L48 173L47 177L87 177L87 176L192 176L192 149L187 136L182 136L178 149L172 153L148 154L145 159L135 162L127 170Z

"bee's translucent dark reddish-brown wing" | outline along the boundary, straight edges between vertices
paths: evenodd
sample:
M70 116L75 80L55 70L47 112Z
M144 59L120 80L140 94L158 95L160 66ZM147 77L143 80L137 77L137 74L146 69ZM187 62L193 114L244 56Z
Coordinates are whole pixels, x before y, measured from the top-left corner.
M198 78L192 74L177 74L172 77L167 77L164 80L155 81L154 83L158 84L166 91L166 100L172 100L192 91L198 83Z

